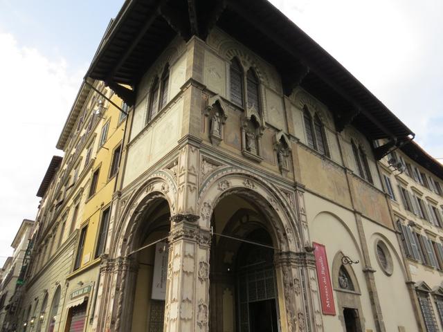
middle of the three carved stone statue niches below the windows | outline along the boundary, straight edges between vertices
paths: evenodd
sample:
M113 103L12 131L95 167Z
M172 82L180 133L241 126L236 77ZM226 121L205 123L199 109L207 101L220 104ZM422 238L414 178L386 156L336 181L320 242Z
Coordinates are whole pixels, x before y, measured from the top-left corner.
M255 108L246 109L242 119L242 154L260 163L262 158L261 139L264 123Z

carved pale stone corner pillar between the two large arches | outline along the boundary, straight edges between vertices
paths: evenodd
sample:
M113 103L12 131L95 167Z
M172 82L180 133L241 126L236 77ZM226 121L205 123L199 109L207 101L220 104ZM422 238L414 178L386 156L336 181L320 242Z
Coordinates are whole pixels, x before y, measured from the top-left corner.
M165 332L208 331L210 233L198 219L171 217Z

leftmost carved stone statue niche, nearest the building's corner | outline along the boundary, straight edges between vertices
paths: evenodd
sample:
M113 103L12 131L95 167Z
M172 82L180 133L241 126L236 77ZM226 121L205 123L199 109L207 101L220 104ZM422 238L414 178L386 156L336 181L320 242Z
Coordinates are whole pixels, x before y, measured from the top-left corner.
M208 106L205 109L205 116L209 120L209 138L213 145L219 145L223 140L223 126L228 116L226 116L226 105L219 95L214 95L208 99Z

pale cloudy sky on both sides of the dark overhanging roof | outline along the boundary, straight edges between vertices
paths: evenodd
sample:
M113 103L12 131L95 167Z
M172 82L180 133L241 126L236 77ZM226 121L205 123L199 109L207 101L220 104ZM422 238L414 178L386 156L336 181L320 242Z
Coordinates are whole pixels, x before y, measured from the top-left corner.
M271 0L443 158L443 1ZM0 0L0 266L123 0Z

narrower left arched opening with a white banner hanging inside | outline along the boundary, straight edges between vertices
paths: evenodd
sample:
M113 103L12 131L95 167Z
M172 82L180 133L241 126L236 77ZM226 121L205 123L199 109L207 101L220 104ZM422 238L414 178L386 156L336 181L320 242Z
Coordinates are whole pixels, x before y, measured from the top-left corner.
M163 331L168 273L170 208L165 199L147 206L134 232L131 255L134 271L129 279L132 292L131 331ZM161 240L161 241L159 241ZM158 242L156 242L158 241Z

